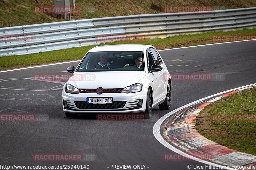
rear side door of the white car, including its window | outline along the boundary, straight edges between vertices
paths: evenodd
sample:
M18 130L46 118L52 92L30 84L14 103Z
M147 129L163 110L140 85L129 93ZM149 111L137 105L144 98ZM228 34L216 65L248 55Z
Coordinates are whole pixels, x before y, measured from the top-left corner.
M154 48L150 48L150 51L155 59L156 65L159 65L161 67L163 67L163 69L159 72L159 74L161 75L162 78L162 82L159 83L159 87L158 90L161 91L160 94L160 100L164 99L165 94L166 94L166 87L167 87L167 83L168 83L168 79L166 79L166 71L167 71L167 67L165 66L164 62L162 61L160 55L158 54L158 52L156 51L156 49Z

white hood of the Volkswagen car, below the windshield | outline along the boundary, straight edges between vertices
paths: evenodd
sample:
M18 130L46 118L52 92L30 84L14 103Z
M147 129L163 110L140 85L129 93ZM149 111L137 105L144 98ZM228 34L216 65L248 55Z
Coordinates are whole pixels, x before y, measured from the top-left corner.
M145 71L75 72L68 83L78 89L125 88L138 83L145 75Z

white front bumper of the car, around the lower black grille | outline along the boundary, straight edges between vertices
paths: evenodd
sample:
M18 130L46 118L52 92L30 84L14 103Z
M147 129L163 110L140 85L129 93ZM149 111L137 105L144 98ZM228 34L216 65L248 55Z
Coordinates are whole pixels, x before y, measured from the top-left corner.
M106 107L105 104L87 104L87 97L113 97L113 104ZM136 93L103 93L101 95L96 93L78 93L70 94L64 90L62 92L62 108L66 113L137 113L146 110L147 88L143 88ZM125 101L125 102L124 102ZM142 101L142 106L140 103ZM79 103L79 104L78 104ZM115 104L114 104L115 103ZM118 108L115 108L118 103ZM120 107L120 103L122 104ZM125 104L124 104L125 103ZM65 104L65 107L64 107ZM138 105L136 105L138 104ZM105 105L103 108L88 107L88 105ZM86 106L85 108L83 108ZM114 106L114 107L113 107ZM113 108L112 108L113 107ZM92 109L93 108L93 109ZM96 109L98 108L98 109Z

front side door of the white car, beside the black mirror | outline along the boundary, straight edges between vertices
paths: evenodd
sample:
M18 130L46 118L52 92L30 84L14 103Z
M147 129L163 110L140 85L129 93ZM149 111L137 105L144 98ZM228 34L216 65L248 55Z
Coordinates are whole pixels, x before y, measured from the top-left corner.
M153 54L150 49L146 51L147 53L147 59L148 59L148 72L151 70L152 65L156 65L156 61L153 57ZM149 80L153 84L153 104L157 103L160 100L161 93L162 93L162 77L161 77L161 71L160 72L153 72L149 73L148 76Z

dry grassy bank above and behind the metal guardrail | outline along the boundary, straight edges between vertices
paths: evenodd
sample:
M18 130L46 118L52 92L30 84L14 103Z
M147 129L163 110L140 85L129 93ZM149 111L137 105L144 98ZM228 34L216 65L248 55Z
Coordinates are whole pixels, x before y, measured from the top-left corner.
M70 1L72 4L72 1ZM162 13L163 6L212 6L214 9L246 8L256 6L255 0L76 0L82 13L72 14L72 19L87 19L135 14ZM53 14L35 13L39 6L53 6L53 0L0 0L0 27L63 21ZM71 5L72 6L72 5Z

